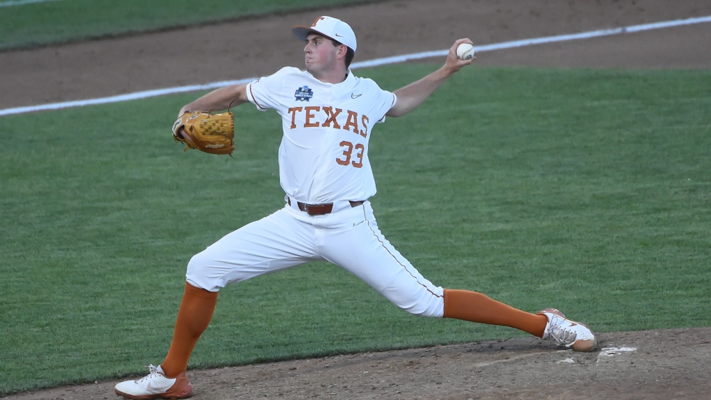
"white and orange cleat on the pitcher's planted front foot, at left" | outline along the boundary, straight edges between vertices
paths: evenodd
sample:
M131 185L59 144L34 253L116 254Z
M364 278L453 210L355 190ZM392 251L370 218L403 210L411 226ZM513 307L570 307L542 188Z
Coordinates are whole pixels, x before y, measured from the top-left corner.
M149 365L148 369L151 373L146 377L117 384L114 389L116 394L131 400L186 399L193 394L193 385L185 372L175 378L168 378L160 365Z

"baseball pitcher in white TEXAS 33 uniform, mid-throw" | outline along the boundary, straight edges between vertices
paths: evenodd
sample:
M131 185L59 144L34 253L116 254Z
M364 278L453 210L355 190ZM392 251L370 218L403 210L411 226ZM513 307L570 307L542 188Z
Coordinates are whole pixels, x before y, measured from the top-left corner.
M458 46L471 41L455 41L441 68L389 92L349 69L358 44L347 23L321 16L292 31L304 43L305 70L282 68L251 83L214 90L185 105L173 125L173 136L186 149L230 154L232 113L210 115L210 110L247 103L261 111L276 110L284 132L279 147L284 207L193 256L166 358L158 367L151 365L146 377L117 384L116 393L142 400L191 396L188 359L208 327L220 288L314 260L345 268L413 315L513 327L590 351L596 344L592 331L558 310L524 312L481 293L435 285L378 228L368 201L375 195L368 158L375 126L414 110L447 78L474 62L471 54L467 59L456 56ZM201 130L208 128L203 135Z

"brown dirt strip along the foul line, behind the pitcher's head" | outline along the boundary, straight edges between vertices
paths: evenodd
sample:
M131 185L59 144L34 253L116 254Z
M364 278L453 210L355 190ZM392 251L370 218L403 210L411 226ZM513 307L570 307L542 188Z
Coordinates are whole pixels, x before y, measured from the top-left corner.
M355 61L710 16L690 0L402 0L183 31L0 53L0 109L252 78L303 64L289 28L331 14L358 33ZM392 21L397 19L397 26ZM249 40L245 40L249 38ZM481 53L477 65L710 68L711 23ZM394 89L394 88L393 88Z

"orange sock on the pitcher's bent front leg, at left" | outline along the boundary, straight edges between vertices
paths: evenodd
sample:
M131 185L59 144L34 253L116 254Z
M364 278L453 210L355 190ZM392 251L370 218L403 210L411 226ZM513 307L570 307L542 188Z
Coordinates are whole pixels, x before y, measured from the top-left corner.
M188 369L188 359L193 349L210 325L218 302L218 292L208 292L186 283L183 301L178 310L173 342L168 355L161 363L166 377L177 377Z

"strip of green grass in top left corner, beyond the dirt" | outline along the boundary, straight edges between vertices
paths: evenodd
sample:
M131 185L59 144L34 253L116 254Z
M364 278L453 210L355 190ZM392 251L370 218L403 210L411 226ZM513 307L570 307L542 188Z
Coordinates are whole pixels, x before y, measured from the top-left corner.
M0 7L0 51L373 1L380 0L64 0Z

